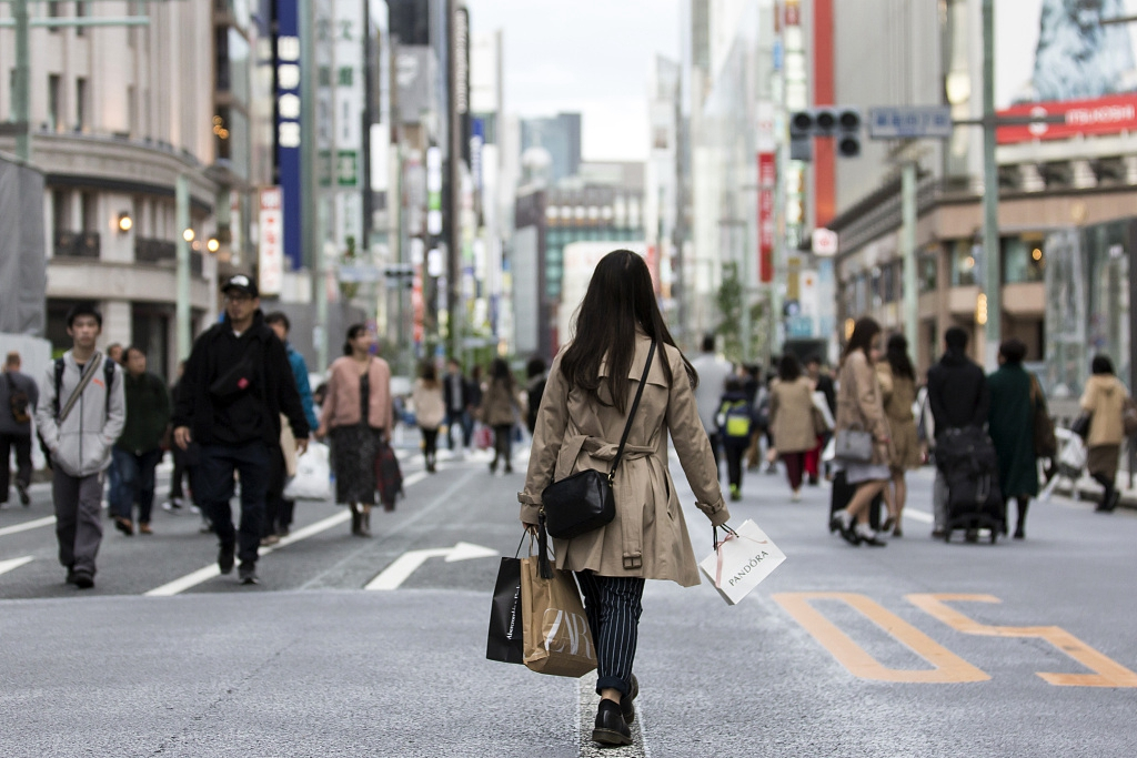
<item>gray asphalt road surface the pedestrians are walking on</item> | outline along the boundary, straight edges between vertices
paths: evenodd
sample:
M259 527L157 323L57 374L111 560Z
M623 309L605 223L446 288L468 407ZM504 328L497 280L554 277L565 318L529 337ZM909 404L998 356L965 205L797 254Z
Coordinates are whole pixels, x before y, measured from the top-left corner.
M711 530L673 470L702 557ZM159 511L150 536L108 525L80 592L45 488L0 509L0 756L594 755L587 681L484 660L523 475L481 453L405 474L371 540L299 503L254 588L208 575L214 539ZM606 755L1137 755L1137 517L1056 498L1026 541L944 544L930 472L911 481L906 536L854 549L824 528L827 489L790 503L749 474L732 522L788 560L735 607L649 583L639 739Z

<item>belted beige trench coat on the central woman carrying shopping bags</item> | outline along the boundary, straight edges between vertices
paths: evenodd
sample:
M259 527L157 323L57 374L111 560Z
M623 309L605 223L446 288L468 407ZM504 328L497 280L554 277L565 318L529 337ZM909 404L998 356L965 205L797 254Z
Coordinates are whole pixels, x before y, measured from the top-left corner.
M644 375L649 348L650 340L638 334L628 373L632 380L628 386L628 410ZM664 359L671 366L670 384ZM604 363L600 375L607 375ZM522 503L521 520L537 523L541 492L550 482L584 468L607 472L624 423L625 417L614 407L596 403L581 390L568 391L557 356L537 415L525 489L517 494ZM682 586L699 583L691 540L667 469L669 431L697 498L695 505L714 525L730 518L681 353L677 348L661 344L616 469L615 520L573 540L554 540L558 568L594 570L603 576L672 580Z

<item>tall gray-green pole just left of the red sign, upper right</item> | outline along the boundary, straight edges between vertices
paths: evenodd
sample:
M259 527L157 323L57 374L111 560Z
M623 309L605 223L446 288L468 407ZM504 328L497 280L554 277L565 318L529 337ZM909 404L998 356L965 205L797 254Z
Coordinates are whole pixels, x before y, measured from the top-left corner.
M1003 283L998 239L998 167L995 164L995 0L984 0L984 292L987 324L984 363L997 366L1003 336Z

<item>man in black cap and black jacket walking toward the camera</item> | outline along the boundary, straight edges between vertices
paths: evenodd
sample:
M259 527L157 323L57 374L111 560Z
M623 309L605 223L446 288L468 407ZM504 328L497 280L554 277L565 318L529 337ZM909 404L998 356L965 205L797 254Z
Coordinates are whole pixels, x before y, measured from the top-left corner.
M308 447L308 422L292 378L284 343L265 324L257 285L233 276L222 288L225 319L198 338L185 364L174 409L174 442L200 448L194 481L202 510L221 542L217 567L233 570L238 533L230 498L233 472L241 475L240 577L257 583L271 456L280 444L281 414L288 417L299 452Z

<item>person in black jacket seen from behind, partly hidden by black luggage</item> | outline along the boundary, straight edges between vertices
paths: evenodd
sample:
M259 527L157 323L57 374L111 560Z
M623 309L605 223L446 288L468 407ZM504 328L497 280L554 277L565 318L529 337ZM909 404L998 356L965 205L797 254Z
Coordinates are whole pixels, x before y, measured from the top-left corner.
M928 406L937 438L948 430L982 428L990 403L987 375L968 358L968 333L953 326L944 334L944 343L947 351L928 369ZM947 483L939 468L936 469L932 505L936 523L931 534L940 538L947 524Z

